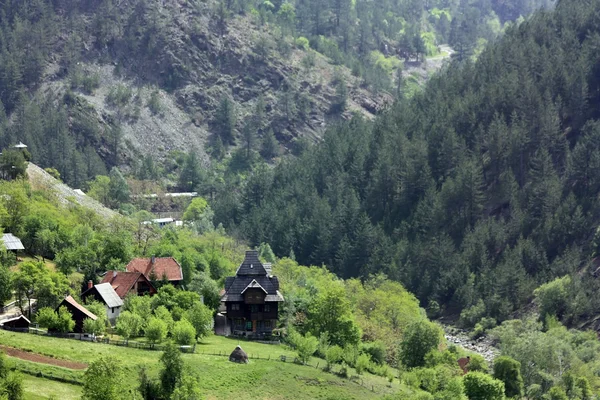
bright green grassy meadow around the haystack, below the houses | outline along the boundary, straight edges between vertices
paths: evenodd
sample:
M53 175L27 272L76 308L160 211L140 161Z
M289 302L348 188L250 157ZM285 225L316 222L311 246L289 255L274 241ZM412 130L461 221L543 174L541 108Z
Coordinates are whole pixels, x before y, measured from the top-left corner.
M184 354L183 359L191 369L200 376L203 393L207 399L225 399L243 397L245 399L375 399L384 393L400 388L394 383L387 386L384 378L370 374L360 378L364 386L342 379L337 375L326 373L314 366L297 365L291 362L277 361L280 355L294 358L295 353L285 346L267 345L255 342L239 342L251 356L271 358L271 360L251 360L250 364L235 364L227 357L209 355L207 353L230 353L238 341L219 336L210 336L205 343L196 347L196 354ZM0 344L33 351L50 357L72 361L91 362L103 355L112 355L119 359L126 369L127 384L137 386L138 371L141 366L148 368L151 375L156 375L160 368L161 353L148 350L137 350L126 347L110 346L99 343L79 342L76 340L58 339L45 336L34 336L25 333L0 331ZM22 363L25 363L21 361ZM324 361L315 359L312 364ZM28 363L31 364L31 363ZM35 364L41 369L53 369L54 373L62 369ZM46 371L44 371L44 374ZM30 381L30 377L27 381ZM37 378L36 378L37 379ZM43 380L45 381L45 380ZM29 384L29 383L28 383ZM52 382L56 390L62 388L65 393L75 393L72 385ZM366 387L365 387L366 386ZM30 388L35 389L32 384ZM367 389L368 388L368 389ZM373 391L371 390L373 389ZM76 394L74 394L77 396ZM42 392L28 392L28 399L45 398ZM69 395L59 396L69 399Z

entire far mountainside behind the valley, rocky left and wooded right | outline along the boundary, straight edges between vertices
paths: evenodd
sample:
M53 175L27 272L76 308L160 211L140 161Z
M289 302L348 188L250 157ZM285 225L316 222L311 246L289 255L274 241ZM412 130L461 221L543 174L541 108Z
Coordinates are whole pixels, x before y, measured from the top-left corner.
M475 56L511 21L551 5L6 1L0 145L25 142L32 161L84 189L114 166L145 179L152 163L151 178L172 186L181 152L207 166L260 149L271 162L332 122L372 118L412 94L424 57L437 65L449 55L441 44Z

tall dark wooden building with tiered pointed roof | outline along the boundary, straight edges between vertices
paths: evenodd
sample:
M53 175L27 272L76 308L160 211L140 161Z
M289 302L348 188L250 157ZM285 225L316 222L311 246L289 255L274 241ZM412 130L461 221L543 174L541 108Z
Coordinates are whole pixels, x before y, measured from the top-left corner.
M234 335L268 336L277 327L283 296L277 277L269 272L258 259L258 251L251 250L236 275L225 280L222 314Z

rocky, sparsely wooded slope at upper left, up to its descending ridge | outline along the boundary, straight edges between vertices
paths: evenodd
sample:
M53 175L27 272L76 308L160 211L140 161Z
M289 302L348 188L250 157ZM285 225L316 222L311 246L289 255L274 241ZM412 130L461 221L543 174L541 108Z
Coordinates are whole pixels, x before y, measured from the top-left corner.
M318 140L329 121L353 112L370 118L391 102L250 15L218 22L219 4L5 3L0 145L27 142L33 161L81 186L106 168L134 167L144 154L164 161L171 151L196 149L206 163L225 99L231 144L240 144L260 100L253 129L258 139L272 129L283 147ZM341 115L332 112L340 85L348 98Z

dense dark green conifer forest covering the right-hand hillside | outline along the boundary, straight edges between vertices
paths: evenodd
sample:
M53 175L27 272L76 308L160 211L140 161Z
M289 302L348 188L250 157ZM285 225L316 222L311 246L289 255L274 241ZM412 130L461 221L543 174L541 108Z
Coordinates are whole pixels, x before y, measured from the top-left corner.
M542 313L585 321L600 311L599 65L600 3L562 0L374 123L221 192L216 218L343 277L383 272L465 323L565 277L536 291Z

